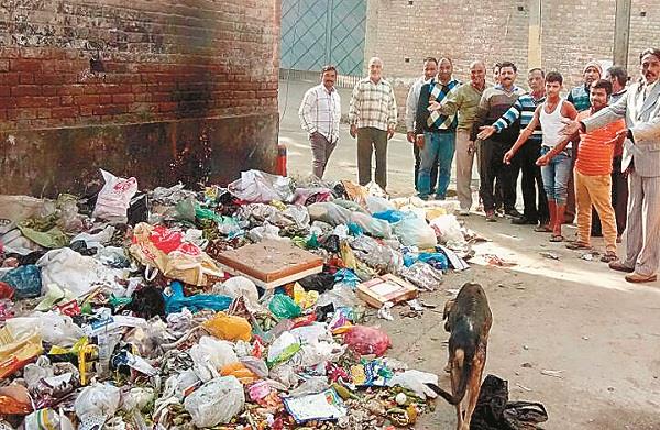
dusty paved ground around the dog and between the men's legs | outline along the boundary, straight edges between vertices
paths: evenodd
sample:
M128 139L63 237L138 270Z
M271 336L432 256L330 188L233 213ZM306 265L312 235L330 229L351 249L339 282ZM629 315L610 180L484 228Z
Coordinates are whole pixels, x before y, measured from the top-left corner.
M288 104L286 85L280 82L280 141L289 147L290 173L307 175L310 153L297 122L297 104L310 84L289 82ZM350 93L341 95L346 104ZM355 141L345 126L341 139L328 177L355 179ZM411 172L410 146L397 135L389 145L389 191L410 194ZM448 289L468 280L484 286L494 317L486 373L508 379L512 399L544 404L550 416L546 429L660 429L660 283L627 284L604 263L581 260L581 253L550 243L529 228L502 219L485 223L477 213L464 220L491 242L475 246L470 269L448 274L438 291L422 298L441 308ZM574 228L568 229L571 236ZM603 251L601 240L594 245ZM516 265L488 265L485 254ZM393 338L393 355L441 375L441 384L449 387L442 372L448 334L441 318L433 311L416 320L395 312L394 321L381 323ZM559 371L561 377L541 371ZM442 400L437 405L416 429L453 428L453 409Z

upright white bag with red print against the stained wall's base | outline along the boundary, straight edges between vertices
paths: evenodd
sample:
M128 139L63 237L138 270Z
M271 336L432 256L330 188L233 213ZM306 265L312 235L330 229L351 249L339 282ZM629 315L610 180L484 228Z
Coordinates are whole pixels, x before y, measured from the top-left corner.
M119 178L109 172L101 169L106 185L101 188L94 208L92 217L101 218L111 222L127 222L127 210L131 206L131 199L138 192L138 179Z

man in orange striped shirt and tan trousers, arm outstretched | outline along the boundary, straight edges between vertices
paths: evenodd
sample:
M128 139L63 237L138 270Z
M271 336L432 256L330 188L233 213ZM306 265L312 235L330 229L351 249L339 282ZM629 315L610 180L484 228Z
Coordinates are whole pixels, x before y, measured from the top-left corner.
M591 85L591 108L578 114L582 121L607 107L612 95L612 82L600 79ZM616 147L620 147L626 130L623 119L590 133L580 132L580 150L575 161L574 183L578 207L578 240L566 245L571 250L591 249L592 205L596 209L603 225L605 254L602 262L613 262L616 256L616 221L612 207L612 161Z

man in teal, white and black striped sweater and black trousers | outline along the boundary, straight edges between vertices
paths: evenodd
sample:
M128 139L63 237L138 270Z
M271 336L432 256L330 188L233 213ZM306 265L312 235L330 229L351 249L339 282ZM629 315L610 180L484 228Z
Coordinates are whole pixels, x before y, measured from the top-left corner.
M493 125L483 126L479 134L480 139L487 139L493 133L499 133L516 122L518 122L520 130L524 130L531 122L537 106L546 101L546 74L540 68L532 68L527 75L527 82L531 92L520 96L514 106ZM541 154L542 137L543 133L539 125L512 161L514 183L518 179L518 170L522 172L521 188L525 205L522 217L514 218L512 223L522 225L538 222L539 227L535 230L547 231L547 224L550 221L548 198L543 190L541 169L536 164Z

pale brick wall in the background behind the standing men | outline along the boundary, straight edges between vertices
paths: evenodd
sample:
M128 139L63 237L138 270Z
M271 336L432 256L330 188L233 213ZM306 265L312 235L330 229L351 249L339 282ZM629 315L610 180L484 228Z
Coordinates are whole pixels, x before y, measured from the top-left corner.
M454 74L466 80L473 59L491 65L513 60L525 85L530 12L528 0L370 0L365 56L380 56L385 75L407 85L421 73L428 55L449 55ZM646 16L642 16L646 12ZM566 86L578 85L590 59L612 60L614 0L541 2L541 60L557 69ZM632 0L628 69L638 76L638 55L660 45L660 10L653 0ZM409 58L409 62L406 62ZM399 103L404 100L397 99Z

